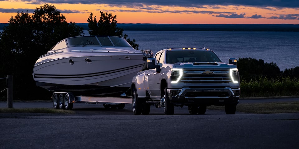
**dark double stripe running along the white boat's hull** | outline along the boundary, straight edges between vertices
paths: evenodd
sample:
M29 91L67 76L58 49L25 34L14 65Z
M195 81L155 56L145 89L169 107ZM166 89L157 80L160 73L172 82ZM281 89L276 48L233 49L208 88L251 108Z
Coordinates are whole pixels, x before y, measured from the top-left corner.
M121 69L116 69L116 70L109 70L109 71L104 71L104 72L98 72L98 73L91 73L91 74L82 74L82 75L48 75L48 74L34 74L34 78L49 78L49 79L71 79L71 78L85 78L85 77L94 77L94 76L100 76L100 75L107 75L107 74L112 74L116 72L121 72L124 70L130 70L138 67L142 67L144 64L140 65L134 65L131 67L125 67Z

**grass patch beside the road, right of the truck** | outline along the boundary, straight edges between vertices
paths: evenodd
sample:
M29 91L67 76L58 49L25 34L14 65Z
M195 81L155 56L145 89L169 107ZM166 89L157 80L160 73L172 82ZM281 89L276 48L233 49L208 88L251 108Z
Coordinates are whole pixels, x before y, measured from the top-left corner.
M210 110L225 110L224 106L207 106ZM237 111L255 114L268 113L297 113L299 112L299 102L270 102L270 103L254 103L239 104Z

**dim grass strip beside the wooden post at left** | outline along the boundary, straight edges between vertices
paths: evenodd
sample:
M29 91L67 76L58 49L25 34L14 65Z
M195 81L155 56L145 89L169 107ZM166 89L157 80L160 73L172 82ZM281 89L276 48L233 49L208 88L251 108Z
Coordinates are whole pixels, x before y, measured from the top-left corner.
M50 109L50 108L0 108L0 113L55 113L55 114L75 114L74 111Z

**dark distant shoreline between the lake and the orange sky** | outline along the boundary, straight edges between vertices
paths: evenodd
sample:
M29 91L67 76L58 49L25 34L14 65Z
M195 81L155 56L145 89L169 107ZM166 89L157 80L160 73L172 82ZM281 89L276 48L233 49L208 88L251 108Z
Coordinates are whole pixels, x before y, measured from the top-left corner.
M0 30L7 23L0 23ZM88 30L88 23L77 23ZM295 24L133 24L118 23L117 27L124 30L138 31L266 31L266 32L299 32Z

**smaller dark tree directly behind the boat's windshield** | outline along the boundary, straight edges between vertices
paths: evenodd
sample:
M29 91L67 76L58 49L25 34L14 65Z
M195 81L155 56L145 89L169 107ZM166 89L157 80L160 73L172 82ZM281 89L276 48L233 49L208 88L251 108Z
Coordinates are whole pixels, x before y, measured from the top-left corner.
M100 11L100 19L97 21L97 17L93 17L93 13L91 12L87 22L88 22L88 33L90 35L104 35L104 36L119 36L125 38L128 43L134 48L138 49L139 44L135 43L135 39L130 40L130 38L127 38L128 35L123 35L123 29L116 27L116 15L112 16L111 13L108 14L108 12L104 13Z

